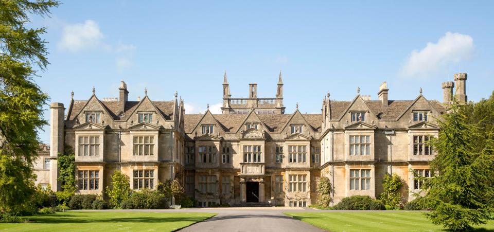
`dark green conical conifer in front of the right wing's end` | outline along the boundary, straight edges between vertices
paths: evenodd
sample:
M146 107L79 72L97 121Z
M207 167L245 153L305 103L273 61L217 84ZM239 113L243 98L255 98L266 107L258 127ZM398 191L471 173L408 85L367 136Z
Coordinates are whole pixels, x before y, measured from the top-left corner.
M438 121L439 137L432 139L437 156L431 161L432 177L424 181L420 198L422 208L431 208L427 217L434 224L443 224L451 230L466 230L471 225L484 224L494 212L494 140L492 132L487 137L480 125L469 124L457 101L449 113ZM483 139L483 148L476 141Z

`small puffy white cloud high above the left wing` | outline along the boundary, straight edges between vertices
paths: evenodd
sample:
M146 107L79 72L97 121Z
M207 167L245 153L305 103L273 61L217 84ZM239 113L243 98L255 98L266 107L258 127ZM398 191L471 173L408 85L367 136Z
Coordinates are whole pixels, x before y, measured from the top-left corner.
M63 28L62 40L58 42L60 50L71 52L104 46L101 40L103 33L99 30L98 23L86 20L83 24L68 24Z

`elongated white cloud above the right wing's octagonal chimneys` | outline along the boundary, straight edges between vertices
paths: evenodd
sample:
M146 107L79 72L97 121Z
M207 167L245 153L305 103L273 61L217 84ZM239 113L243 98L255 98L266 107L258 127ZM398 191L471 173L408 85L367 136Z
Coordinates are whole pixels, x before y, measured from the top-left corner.
M446 32L437 43L427 43L420 51L413 50L401 69L404 77L427 76L446 65L468 59L473 51L470 35Z

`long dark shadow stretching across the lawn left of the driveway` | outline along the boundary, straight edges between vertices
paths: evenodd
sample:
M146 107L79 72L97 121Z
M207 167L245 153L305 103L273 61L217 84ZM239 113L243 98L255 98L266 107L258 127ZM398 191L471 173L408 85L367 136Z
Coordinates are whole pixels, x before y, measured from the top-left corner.
M85 217L85 218L80 218ZM117 222L143 222L143 223L166 223L166 222L200 222L207 217L134 217L134 218L92 218L80 215L44 215L39 217L28 217L30 222L61 224L61 223L117 223Z

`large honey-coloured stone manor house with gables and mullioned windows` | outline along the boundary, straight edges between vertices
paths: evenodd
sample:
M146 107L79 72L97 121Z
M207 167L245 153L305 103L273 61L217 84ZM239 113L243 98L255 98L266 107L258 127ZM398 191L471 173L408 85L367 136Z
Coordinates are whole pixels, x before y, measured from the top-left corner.
M186 114L177 93L153 100L145 91L130 101L122 81L118 98L100 99L93 88L86 100L72 93L67 111L51 103L50 155L43 164L57 167L57 154L74 152L81 194L103 193L115 170L129 176L134 190L178 179L201 207L308 206L320 176L329 177L334 204L351 195L376 198L386 173L405 180L408 201L421 186L414 176L431 175L428 162L436 153L428 140L438 135L436 119L453 97L467 101L466 79L460 73L444 82L443 102L421 90L413 100L389 100L386 82L376 88L378 100L359 90L346 101L328 93L321 114L303 114L298 104L285 112L281 73L268 98L257 96L255 83L248 98L233 98L225 74L222 114ZM50 183L41 184L59 190L57 169L49 173Z

